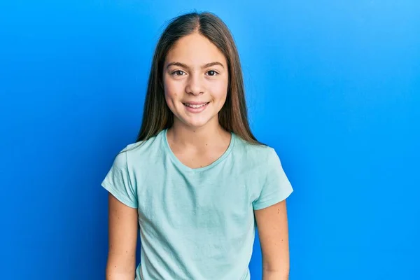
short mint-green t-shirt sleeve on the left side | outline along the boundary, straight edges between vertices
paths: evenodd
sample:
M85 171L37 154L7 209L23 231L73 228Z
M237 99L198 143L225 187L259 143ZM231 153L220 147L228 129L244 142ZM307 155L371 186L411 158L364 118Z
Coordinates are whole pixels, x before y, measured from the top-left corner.
M128 207L138 207L137 192L132 186L128 171L127 151L123 150L116 155L113 165L101 186Z

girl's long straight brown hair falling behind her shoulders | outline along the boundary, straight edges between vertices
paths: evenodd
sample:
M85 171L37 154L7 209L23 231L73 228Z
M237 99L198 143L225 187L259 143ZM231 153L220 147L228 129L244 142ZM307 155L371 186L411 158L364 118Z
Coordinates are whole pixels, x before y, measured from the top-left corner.
M228 94L225 104L218 113L219 123L225 130L234 132L245 141L261 144L253 136L248 124L244 80L235 41L225 23L217 15L209 12L180 15L169 22L160 36L153 55L143 120L136 142L154 137L174 123L174 114L165 101L162 83L163 64L167 52L176 41L193 32L198 32L214 43L228 62Z

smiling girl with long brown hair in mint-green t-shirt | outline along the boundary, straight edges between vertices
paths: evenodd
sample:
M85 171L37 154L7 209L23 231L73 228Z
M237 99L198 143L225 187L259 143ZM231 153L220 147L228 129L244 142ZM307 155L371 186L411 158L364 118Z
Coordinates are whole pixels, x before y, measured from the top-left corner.
M293 189L274 149L249 129L241 75L216 15L181 15L163 32L139 137L102 182L106 279L250 279L257 226L263 280L288 279L285 200Z

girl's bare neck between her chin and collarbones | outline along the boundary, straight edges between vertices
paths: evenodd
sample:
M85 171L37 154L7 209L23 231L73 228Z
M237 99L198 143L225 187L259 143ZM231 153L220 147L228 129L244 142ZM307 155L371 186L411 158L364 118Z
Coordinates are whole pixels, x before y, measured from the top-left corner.
M174 125L168 130L168 134L175 144L198 149L221 144L230 137L230 132L224 130L218 120L209 122L203 127L188 127L174 120Z

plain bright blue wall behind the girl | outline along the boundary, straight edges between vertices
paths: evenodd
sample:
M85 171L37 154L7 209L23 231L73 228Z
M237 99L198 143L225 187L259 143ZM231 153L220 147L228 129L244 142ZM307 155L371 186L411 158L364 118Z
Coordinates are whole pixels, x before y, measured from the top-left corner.
M295 188L290 279L420 279L416 0L1 1L1 279L104 279L99 184L193 9L230 27L252 129Z

